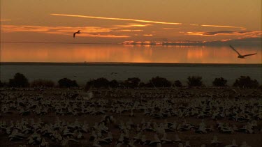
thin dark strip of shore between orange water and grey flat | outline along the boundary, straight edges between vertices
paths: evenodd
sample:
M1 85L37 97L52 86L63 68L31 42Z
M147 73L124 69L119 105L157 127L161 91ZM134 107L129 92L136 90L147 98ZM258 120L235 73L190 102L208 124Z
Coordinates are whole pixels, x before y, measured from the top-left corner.
M54 63L54 62L0 62L0 65L78 65L78 66L163 66L163 67L245 67L262 68L262 63L118 63L118 62L82 62L82 63Z

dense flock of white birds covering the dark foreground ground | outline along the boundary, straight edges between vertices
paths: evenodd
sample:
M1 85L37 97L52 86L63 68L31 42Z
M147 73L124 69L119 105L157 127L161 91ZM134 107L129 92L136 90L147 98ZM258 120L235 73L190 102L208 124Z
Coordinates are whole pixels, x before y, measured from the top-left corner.
M212 91L1 89L0 145L189 147L190 134L210 134L199 146L247 147L219 135L262 136L261 90Z

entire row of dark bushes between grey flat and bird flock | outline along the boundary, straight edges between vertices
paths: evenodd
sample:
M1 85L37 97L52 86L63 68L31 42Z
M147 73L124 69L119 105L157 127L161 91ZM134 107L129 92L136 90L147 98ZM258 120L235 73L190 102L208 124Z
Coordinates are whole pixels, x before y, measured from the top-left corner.
M205 86L202 81L202 77L199 76L189 76L187 77L187 84L189 87L194 86ZM9 82L1 82L0 87L54 87L56 84L48 79L36 79L29 84L27 77L23 74L17 72L13 79L9 79ZM59 79L59 87L70 88L78 87L78 83L75 80L63 78ZM173 84L169 82L166 78L163 77L152 77L149 82L144 83L138 77L131 77L125 81L117 81L113 79L109 81L104 77L98 79L91 79L85 85L85 91L88 91L90 88L159 88L159 87L182 87L182 82L176 80ZM215 78L212 82L212 86L227 86L227 80L223 77ZM249 76L241 76L238 79L235 79L233 84L235 87L239 88L262 88L262 85L259 85L259 82L256 79L251 79Z

